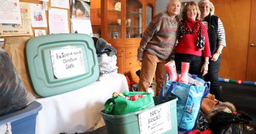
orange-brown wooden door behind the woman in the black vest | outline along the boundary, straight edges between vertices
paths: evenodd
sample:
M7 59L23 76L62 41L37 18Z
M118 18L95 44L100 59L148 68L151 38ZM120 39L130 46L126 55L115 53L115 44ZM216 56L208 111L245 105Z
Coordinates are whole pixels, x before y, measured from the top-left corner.
M211 2L215 6L215 14L223 22L226 33L226 48L223 49L219 76L245 80L251 0Z

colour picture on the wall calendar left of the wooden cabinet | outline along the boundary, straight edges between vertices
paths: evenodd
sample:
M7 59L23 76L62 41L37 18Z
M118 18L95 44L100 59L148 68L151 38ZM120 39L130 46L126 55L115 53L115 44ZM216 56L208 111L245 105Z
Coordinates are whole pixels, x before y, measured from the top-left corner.
M72 0L71 18L90 19L91 2L89 0Z

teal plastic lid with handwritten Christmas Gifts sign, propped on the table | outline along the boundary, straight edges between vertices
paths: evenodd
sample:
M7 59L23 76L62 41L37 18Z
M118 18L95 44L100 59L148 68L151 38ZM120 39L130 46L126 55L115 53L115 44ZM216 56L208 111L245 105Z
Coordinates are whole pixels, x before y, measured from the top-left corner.
M95 44L86 34L34 37L26 45L26 59L33 89L41 97L77 90L100 74Z

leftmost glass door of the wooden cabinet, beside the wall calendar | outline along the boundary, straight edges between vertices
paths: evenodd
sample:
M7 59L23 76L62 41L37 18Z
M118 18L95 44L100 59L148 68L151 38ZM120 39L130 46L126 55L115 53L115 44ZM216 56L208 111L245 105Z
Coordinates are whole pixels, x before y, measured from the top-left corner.
M93 37L100 38L102 33L101 29L101 1L93 0L91 1L91 26L93 28Z

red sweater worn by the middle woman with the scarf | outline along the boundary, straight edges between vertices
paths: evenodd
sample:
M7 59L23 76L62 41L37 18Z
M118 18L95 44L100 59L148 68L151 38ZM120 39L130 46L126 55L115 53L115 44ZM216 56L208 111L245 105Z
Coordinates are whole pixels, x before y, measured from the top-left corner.
M188 25L193 29L194 24L196 21L188 20ZM205 47L203 50L200 50L198 46L196 46L196 43L198 42L198 32L193 34L186 34L184 35L181 40L179 40L179 43L177 44L175 48L175 52L180 54L192 54L195 56L202 56L203 51L203 57L211 57L211 50L209 46L209 38L208 33L205 25L203 25L203 31L205 36Z

